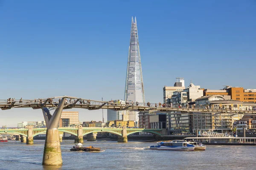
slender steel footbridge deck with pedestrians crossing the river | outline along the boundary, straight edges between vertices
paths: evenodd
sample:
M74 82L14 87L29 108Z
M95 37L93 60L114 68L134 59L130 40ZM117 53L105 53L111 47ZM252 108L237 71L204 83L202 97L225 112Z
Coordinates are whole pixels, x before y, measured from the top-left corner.
M232 108L229 109L206 109L204 107L182 107L182 108L170 108L170 107L162 107L161 105L157 105L155 107L155 103L147 104L140 103L136 105L126 105L120 103L113 103L113 102L106 102L106 101L96 101L90 99L81 99L76 97L70 96L58 96L52 97L47 99L22 99L19 101L7 101L7 100L0 100L0 108L2 110L7 110L11 108L33 108L33 109L40 109L40 108L52 108L55 109L58 107L58 99L67 98L69 101L65 102L64 109L71 109L71 108L83 108L88 110L97 110L97 109L112 109L116 111L120 110L130 110L130 111L161 111L161 112L172 112L172 111L181 111L181 112L209 112L209 113L240 113L240 114L256 114L256 111L253 110L246 110L246 109L238 109Z

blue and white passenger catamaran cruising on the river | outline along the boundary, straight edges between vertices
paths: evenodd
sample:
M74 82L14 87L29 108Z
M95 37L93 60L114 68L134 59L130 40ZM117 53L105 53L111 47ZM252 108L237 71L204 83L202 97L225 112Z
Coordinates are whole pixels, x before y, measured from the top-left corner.
M157 142L156 146L151 146L149 149L155 150L194 150L195 146L184 140L174 140L170 142Z

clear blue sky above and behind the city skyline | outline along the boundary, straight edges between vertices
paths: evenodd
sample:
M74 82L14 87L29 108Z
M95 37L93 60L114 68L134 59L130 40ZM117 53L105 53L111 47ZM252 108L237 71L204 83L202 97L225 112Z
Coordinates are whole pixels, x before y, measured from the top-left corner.
M0 99L123 99L132 16L146 102L163 102L175 77L256 88L255 0L0 0ZM42 120L40 110L0 111L0 126Z

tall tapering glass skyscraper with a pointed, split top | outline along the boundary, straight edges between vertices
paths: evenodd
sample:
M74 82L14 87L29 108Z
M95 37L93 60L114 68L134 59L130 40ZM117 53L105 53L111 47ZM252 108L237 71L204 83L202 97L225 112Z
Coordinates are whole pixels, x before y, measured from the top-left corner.
M136 17L134 19L133 17L131 18L131 39L125 83L125 101L126 100L130 104L133 101L134 105L136 105L136 102L140 104L145 103Z

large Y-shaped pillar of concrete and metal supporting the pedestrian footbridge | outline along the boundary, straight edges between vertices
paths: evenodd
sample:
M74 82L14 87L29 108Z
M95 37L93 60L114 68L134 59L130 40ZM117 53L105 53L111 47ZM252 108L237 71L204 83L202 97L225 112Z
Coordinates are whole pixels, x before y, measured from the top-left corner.
M61 143L58 133L58 124L61 119L61 113L64 108L65 97L61 99L53 115L48 108L42 108L44 120L47 125L46 139L44 143L43 165L61 166Z

